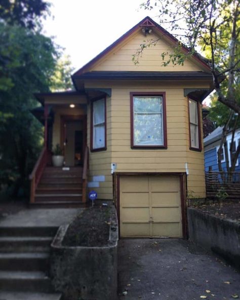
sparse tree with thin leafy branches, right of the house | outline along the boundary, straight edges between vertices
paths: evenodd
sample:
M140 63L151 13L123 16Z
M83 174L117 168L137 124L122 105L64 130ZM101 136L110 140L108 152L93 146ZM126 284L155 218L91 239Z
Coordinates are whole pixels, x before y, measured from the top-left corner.
M198 51L207 56L211 67L215 97L217 102L227 107L229 112L223 128L221 146L225 143L226 133L232 124L233 117L240 113L240 3L238 0L147 0L142 7L146 10L158 9L159 20L178 37L179 43L172 52L162 53L163 65L183 64L184 60ZM135 57L156 41L142 44ZM182 51L182 45L188 52ZM224 83L221 83L222 77ZM236 114L236 115L235 115ZM233 122L234 123L234 122ZM235 124L235 123L234 123ZM237 122L236 122L237 124ZM232 130L233 146L234 128ZM219 159L220 159L219 149ZM236 154L240 153L238 143ZM231 157L231 169L236 156ZM220 163L221 164L221 163ZM219 165L220 165L219 164ZM221 169L221 166L219 167Z

